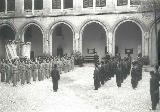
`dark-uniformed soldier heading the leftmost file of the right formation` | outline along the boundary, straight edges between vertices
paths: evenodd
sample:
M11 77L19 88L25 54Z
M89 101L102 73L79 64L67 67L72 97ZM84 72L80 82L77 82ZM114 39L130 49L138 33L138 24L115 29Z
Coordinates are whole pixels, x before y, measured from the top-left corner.
M94 90L98 90L98 88L100 87L100 78L99 78L99 69L98 69L98 65L95 65L95 70L94 70L94 74L93 74L93 79L94 79Z

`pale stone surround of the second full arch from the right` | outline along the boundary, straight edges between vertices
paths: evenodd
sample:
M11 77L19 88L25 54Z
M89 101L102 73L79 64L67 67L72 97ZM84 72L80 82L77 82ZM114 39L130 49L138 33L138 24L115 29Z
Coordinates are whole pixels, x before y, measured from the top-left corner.
M83 24L81 25L80 31L79 31L79 35L80 35L79 46L78 46L79 51L81 53L83 53L83 47L82 47L83 46L82 45L83 44L82 43L83 33L84 33L85 28L92 23L96 23L96 24L100 25L102 27L102 29L105 31L105 46L107 47L107 51L108 51L108 48L109 48L109 46L108 46L108 32L110 31L110 26L105 24L104 21L102 22L102 21L99 21L99 20L87 20L87 21L84 21ZM105 48L105 46L104 46L104 48Z

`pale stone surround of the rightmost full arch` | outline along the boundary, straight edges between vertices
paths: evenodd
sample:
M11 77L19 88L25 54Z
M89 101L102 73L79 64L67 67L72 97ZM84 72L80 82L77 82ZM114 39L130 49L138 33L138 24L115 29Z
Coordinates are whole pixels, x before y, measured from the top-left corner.
M113 55L115 55L115 34L116 34L116 31L121 24L126 23L126 22L133 22L140 28L140 30L142 32L142 56L144 56L145 55L145 37L144 37L145 35L144 35L144 33L148 31L148 28L146 27L146 25L142 21L140 21L136 18L122 18L114 24L113 29L112 29Z

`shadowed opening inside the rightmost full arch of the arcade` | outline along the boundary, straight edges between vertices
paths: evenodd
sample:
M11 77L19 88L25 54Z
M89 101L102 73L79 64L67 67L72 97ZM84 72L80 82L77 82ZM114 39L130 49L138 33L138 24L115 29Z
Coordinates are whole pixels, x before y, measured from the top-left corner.
M115 31L115 54L120 53L124 58L127 52L130 52L134 59L139 53L142 54L142 31L132 21L120 24Z

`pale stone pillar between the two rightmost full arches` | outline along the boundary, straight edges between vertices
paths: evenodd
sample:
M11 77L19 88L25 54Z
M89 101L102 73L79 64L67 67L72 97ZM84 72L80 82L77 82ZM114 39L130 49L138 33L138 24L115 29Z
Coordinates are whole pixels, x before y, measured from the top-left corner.
M107 51L110 55L115 55L115 47L113 44L113 34L112 32L108 33L108 39L107 39Z

